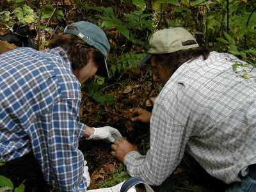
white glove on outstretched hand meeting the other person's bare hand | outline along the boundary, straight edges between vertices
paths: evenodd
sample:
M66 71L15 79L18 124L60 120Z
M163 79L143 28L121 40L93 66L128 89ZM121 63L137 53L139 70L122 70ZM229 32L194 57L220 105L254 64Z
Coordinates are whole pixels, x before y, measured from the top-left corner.
M108 140L114 142L122 138L122 134L115 128L110 126L94 128L94 133L87 140Z

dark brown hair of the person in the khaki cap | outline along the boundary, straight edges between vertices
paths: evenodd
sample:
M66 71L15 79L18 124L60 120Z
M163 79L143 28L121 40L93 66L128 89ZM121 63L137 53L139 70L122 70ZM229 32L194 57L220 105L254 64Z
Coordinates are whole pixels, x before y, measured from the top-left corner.
M182 43L183 46L193 44L196 44L196 42L193 40ZM168 54L154 54L154 60L157 65L172 68L172 72L175 72L180 67L180 65L182 65L186 61L191 62L193 60L196 60L200 56L203 57L203 60L207 60L209 54L210 51L208 49L196 47L184 49L177 52L171 52Z

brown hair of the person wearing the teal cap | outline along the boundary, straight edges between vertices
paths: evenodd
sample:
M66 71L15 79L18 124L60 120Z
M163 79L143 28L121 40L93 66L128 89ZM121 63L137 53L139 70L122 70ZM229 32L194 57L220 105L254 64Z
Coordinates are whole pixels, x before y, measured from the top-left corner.
M75 26L70 26L68 29L77 30ZM62 47L68 52L68 56L72 63L72 69L76 70L84 65L87 65L91 59L90 52L92 52L92 59L95 64L100 67L104 65L104 56L92 45L87 44L84 40L77 38L73 34L58 35L51 40L49 48Z

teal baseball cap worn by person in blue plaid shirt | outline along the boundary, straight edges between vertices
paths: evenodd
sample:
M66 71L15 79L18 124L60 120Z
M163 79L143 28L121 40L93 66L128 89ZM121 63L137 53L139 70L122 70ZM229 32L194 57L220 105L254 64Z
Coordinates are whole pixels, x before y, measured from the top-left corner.
M68 26L75 26L78 31L68 29ZM102 31L102 29L100 29L92 22L87 21L74 22L72 24L69 24L68 26L66 26L63 33L70 33L78 36L79 38L84 40L84 42L92 45L103 54L105 62L104 65L98 68L96 75L109 79L107 58L110 50L110 45L104 31Z

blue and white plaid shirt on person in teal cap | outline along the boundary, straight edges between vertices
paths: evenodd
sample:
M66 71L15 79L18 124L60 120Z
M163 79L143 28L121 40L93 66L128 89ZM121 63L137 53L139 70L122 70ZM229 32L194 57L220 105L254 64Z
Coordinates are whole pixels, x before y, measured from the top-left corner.
M0 54L0 161L33 152L57 191L86 191L81 84L60 47Z

